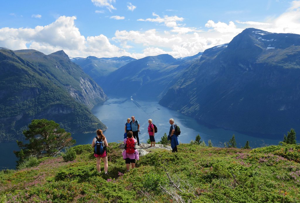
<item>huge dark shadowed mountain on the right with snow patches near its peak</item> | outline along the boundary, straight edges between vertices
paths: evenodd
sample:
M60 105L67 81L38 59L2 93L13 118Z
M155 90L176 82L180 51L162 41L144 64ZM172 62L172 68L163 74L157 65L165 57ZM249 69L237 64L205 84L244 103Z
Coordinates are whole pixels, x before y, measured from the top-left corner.
M160 104L232 130L300 130L299 56L299 35L246 29L205 50Z

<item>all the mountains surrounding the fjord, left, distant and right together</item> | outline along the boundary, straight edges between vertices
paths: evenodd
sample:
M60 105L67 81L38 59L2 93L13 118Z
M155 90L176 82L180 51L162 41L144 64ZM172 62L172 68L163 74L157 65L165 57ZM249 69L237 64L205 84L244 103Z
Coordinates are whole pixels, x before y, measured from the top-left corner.
M67 115L75 115L75 109L90 115L83 131L95 127L91 127L94 123L105 129L89 112L107 99L104 92L159 101L201 122L244 133L282 135L290 128L297 132L299 56L300 35L254 28L227 44L179 59L168 54L138 60L128 56L69 59L63 51L44 55L1 49L0 132L5 136L10 132L5 140L11 140L10 129L20 132L30 119L44 115L61 119L58 122L68 130L75 124ZM83 126L83 119L75 117L77 126Z

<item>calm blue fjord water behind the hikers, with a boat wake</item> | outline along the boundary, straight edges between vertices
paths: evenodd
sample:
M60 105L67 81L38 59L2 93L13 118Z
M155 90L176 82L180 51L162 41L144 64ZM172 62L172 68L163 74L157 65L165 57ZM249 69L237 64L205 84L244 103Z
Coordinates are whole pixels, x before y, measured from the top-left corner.
M108 142L123 140L125 122L131 116L135 116L140 122L141 132L139 138L140 142L145 143L149 139L149 135L147 134L148 119L152 119L153 123L157 126L158 132L155 133L155 140L160 141L164 133L169 133L170 118L173 118L175 123L180 126L181 135L178 139L181 143L189 143L191 140L195 140L198 134L206 144L208 144L207 142L210 139L215 147L223 147L223 143L228 142L233 134L235 134L237 147L243 147L247 140L250 143L250 147L256 148L265 145L277 145L283 139L283 135L254 134L250 136L232 130L199 124L196 119L163 107L158 102L140 101L132 97L110 98L104 104L95 106L91 111L108 127L104 131ZM72 137L76 139L76 145L91 144L95 133L73 133ZM0 143L0 152L2 155L5 155L0 157L0 169L15 168L17 159L13 150L19 150L16 142Z

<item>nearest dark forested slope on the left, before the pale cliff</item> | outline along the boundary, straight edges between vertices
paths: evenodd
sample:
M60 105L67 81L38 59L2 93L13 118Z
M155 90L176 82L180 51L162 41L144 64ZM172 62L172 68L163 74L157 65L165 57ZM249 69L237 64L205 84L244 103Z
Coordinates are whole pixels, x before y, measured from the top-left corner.
M65 70L56 67L50 70L45 62L49 59L41 60L44 57L54 61L51 56L32 54L36 58L27 61L23 58L29 56L21 58L21 54L18 55L11 50L0 50L0 142L22 140L22 130L32 119L54 120L72 133L106 129L88 107L79 103L80 99L71 96L65 88L72 82L75 84L76 80L63 74ZM37 63L38 60L41 62ZM60 83L63 80L65 84Z

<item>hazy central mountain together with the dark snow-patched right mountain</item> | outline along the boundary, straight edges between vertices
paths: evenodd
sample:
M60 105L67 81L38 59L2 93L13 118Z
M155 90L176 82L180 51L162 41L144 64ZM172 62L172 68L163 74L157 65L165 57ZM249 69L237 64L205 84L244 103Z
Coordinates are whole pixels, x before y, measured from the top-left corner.
M247 28L232 41L175 59L148 56L107 74L110 96L136 96L243 133L300 130L299 35Z

